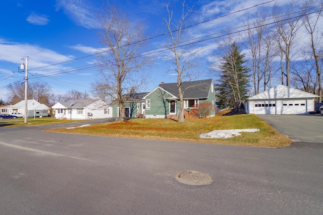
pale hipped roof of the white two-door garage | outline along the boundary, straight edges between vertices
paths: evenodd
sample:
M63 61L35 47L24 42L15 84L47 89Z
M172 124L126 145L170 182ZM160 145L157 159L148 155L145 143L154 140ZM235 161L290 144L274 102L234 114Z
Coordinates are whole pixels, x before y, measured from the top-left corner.
M249 97L248 100L265 100L265 99L297 99L297 98L315 98L317 95L297 90L295 88L278 85L255 96Z

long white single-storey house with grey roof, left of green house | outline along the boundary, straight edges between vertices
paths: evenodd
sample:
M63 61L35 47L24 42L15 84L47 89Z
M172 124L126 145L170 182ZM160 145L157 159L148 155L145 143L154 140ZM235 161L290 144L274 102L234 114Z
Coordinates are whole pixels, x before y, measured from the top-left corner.
M57 119L99 119L112 117L112 107L102 100L74 100L52 106Z

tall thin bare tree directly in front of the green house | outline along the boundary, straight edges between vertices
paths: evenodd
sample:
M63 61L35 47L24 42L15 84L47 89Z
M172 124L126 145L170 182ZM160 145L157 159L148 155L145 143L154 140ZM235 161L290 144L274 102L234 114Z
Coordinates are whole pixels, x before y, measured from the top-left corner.
M166 5L168 18L164 18L164 25L168 29L170 40L166 41L166 48L170 51L168 57L174 64L174 69L177 73L177 89L180 99L180 118L179 122L184 122L184 92L182 88L183 81L195 80L199 77L198 72L192 71L197 67L198 59L194 59L195 54L200 49L194 49L192 45L184 41L187 32L187 26L191 22L192 17L196 14L193 10L194 6L186 5L185 0L182 3L182 13L180 18L175 20L173 10L170 7L170 2Z

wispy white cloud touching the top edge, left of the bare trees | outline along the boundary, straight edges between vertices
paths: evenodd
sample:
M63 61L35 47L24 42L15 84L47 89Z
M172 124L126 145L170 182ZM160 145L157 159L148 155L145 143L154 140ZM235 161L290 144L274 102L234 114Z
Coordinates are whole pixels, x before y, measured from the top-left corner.
M85 28L97 28L98 22L95 13L90 11L89 4L83 0L57 0L56 10L63 9L64 13L77 25Z

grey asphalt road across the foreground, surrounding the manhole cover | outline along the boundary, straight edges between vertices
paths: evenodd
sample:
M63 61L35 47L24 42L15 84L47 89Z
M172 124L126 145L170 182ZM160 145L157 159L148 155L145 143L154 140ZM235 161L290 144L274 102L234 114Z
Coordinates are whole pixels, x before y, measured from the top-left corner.
M1 214L323 213L321 144L270 149L41 131L53 126L0 127ZM176 176L186 170L213 183L181 184Z

